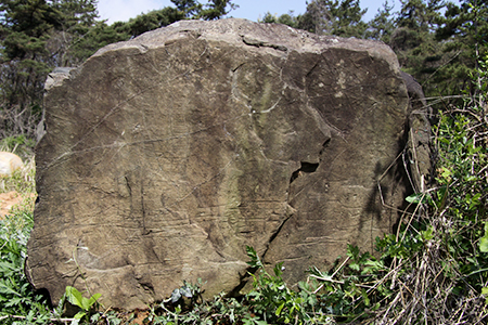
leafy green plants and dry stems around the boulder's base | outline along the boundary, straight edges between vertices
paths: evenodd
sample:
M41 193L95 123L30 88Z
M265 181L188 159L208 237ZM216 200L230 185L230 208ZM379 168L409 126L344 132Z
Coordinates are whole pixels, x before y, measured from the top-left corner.
M171 297L143 311L91 307L91 297L67 288L55 309L34 292L24 272L31 206L0 222L0 320L4 324L486 324L488 320L487 92L488 57L476 74L476 96L442 112L435 128L435 186L411 203L395 234L376 239L378 256L348 246L331 270L311 266L306 282L291 288L282 268L272 273L247 247L253 289L244 297L222 292L202 299L204 283L184 283ZM34 169L3 178L34 190ZM30 184L30 185L29 185ZM85 295L85 296L84 296ZM64 306L78 317L64 317ZM103 302L103 297L100 299ZM139 323L137 323L139 322Z

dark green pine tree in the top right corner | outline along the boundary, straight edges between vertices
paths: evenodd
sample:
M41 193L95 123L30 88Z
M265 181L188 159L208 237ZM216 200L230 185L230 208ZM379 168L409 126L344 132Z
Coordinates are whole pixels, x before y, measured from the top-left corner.
M487 0L464 0L461 5L402 1L389 44L402 69L415 76L427 96L475 91L471 76L477 58L487 52Z

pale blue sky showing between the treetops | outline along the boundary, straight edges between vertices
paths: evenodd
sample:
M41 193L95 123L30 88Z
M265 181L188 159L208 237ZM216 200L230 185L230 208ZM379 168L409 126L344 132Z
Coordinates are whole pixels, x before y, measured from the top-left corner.
M395 1L395 9L400 9L399 0L389 0L389 3ZM205 0L201 0L205 3ZM256 22L262 17L268 11L272 14L281 15L293 10L295 14L305 12L305 0L233 0L240 8L230 13L231 16L237 18L247 18ZM382 6L384 0L360 0L361 8L368 8L364 20L371 20ZM102 20L108 20L108 24L117 21L126 22L141 13L147 13L151 10L162 9L164 6L172 5L169 0L99 0L99 14Z

